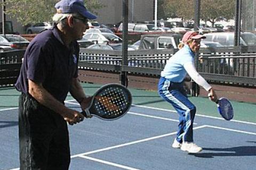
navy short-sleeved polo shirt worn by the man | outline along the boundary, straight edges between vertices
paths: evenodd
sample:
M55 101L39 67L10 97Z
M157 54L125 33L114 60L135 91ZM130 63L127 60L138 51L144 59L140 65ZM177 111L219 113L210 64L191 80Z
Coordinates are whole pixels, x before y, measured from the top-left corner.
M60 38L57 27L38 34L29 43L15 87L28 94L28 79L42 83L55 99L64 102L71 80L78 76L79 46L75 41L70 48Z

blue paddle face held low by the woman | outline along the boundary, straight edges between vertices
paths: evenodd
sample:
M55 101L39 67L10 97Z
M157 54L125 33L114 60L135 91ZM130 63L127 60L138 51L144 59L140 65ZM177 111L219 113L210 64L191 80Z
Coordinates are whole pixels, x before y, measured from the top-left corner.
M231 103L226 98L219 99L218 109L220 115L226 120L231 120L234 117L234 110Z

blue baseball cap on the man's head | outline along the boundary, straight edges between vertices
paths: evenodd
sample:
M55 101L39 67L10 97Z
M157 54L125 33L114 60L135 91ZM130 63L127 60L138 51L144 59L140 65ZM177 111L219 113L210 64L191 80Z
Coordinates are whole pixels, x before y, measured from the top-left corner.
M61 0L54 7L57 9L57 13L79 13L90 20L97 18L96 15L86 9L81 0Z

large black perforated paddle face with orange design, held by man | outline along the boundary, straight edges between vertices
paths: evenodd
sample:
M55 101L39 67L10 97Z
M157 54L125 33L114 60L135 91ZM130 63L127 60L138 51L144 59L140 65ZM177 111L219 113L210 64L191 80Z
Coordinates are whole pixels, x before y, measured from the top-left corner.
M108 84L101 87L95 94L89 109L92 115L103 119L117 119L130 109L132 95L120 84Z

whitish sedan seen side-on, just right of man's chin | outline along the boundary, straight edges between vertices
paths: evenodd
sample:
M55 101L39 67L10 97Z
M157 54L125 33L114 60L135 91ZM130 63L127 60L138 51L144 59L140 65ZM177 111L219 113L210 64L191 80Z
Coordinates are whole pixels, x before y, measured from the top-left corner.
M83 36L83 41L98 42L99 44L106 42L109 44L123 42L122 38L111 33L86 33Z

